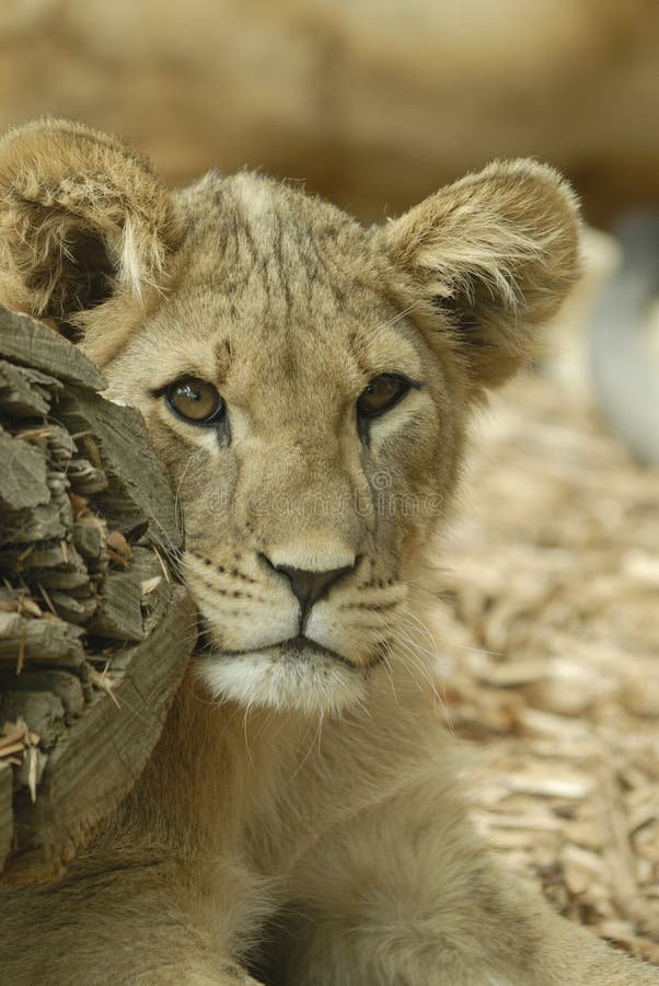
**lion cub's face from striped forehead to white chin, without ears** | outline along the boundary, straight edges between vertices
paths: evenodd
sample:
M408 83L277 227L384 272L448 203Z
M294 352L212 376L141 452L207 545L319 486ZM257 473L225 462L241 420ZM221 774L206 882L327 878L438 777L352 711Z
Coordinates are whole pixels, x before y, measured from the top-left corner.
M174 477L205 680L337 708L409 622L463 399L348 217L253 175L208 180L184 208L177 287L106 365L111 393Z

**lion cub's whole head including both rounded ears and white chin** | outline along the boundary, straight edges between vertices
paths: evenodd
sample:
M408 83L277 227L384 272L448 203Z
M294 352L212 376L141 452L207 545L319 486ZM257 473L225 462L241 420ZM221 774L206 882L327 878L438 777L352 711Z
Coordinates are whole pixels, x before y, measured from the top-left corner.
M171 472L213 693L333 711L415 667L469 410L575 277L562 179L497 162L365 229L255 174L170 193L45 121L0 145L0 298L80 339Z

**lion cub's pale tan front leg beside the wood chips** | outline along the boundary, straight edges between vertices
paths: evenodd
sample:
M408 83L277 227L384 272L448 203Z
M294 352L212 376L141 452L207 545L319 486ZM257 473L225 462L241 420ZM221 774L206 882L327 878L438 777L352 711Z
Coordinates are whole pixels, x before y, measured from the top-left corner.
M428 784L431 783L430 781ZM286 986L658 986L556 915L420 786L325 836L296 872Z

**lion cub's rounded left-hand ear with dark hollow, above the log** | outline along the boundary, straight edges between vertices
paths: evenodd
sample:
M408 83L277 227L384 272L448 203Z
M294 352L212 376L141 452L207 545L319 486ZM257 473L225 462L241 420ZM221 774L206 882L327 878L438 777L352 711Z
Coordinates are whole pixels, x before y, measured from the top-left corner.
M44 119L0 141L0 299L9 307L82 330L109 325L102 311L118 296L140 309L154 299L178 234L169 193L115 138Z

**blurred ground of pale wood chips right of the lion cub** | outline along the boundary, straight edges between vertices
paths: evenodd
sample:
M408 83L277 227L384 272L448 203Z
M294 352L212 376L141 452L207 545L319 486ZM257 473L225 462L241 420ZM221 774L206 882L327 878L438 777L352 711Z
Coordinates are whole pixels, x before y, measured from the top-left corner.
M474 428L436 631L476 821L568 917L659 964L659 471L527 377Z

